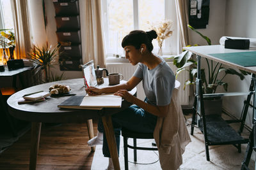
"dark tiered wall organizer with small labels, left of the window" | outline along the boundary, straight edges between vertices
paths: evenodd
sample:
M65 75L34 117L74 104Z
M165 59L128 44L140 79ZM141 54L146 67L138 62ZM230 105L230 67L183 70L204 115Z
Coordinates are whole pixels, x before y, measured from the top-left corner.
M52 0L55 8L57 38L60 43L60 70L80 71L82 64L78 0Z

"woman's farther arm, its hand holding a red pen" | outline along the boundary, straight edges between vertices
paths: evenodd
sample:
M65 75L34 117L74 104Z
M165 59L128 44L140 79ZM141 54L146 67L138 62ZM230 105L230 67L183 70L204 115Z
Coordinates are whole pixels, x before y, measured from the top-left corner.
M108 93L114 93L118 90L132 90L138 83L140 83L141 79L135 76L132 76L126 83L122 83L120 85L115 85L111 87L104 87L102 89L98 89L96 87L89 87L86 88L86 92L88 92L89 95L99 95L99 94L108 94Z

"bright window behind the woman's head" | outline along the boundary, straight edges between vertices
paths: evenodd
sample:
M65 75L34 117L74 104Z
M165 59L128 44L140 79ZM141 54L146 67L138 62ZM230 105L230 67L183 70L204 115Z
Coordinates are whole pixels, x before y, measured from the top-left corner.
M168 0L102 0L104 41L108 57L124 56L122 39L130 31L149 31L150 24L164 20L173 21L173 35L164 40L163 55L177 53L177 24L175 2ZM149 22L149 23L148 23ZM152 41L154 53L159 50L156 39Z

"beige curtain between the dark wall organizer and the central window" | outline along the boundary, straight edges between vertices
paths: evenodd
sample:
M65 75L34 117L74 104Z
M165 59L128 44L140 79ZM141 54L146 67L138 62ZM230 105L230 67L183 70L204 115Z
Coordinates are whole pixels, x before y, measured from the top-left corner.
M102 36L102 15L100 0L85 1L85 56L83 62L94 60L94 64L105 67Z

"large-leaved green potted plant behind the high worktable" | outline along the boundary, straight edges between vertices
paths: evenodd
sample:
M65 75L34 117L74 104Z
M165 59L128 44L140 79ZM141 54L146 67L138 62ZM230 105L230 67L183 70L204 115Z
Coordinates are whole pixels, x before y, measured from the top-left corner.
M208 45L211 45L211 39L209 39L207 36L204 36L200 32L196 31L195 28L191 27L191 25L188 25L188 27L189 29L199 34L202 38L204 38L207 41ZM207 63L207 71L205 71L205 69L201 69L202 89L204 94L214 94L216 92L216 89L219 86L223 86L223 88L227 92L228 83L223 81L223 79L225 78L225 76L227 76L227 74L234 74L236 76L239 76L241 80L244 79L244 75L250 74L250 73L246 73L245 71L240 70L239 72L232 68L223 67L222 64L219 62L214 63L212 62L212 60L208 60L206 58L204 59L206 60L206 63ZM186 85L195 84L195 78L197 74L197 62L196 60L193 59L193 55L191 52L184 51L180 55L173 57L173 64L178 68L176 71L176 77L179 75L181 71L189 72L189 80L186 80L184 88L186 87ZM220 74L221 72L224 74ZM211 106L213 105L212 103L222 104L222 99L220 97L207 98L207 101L205 100L204 103L205 103L205 114L207 114L207 109L209 111L214 110L211 108L209 109L209 106L207 106L207 104L209 103L209 105ZM213 108L220 108L220 114L221 114L221 106L213 106Z

